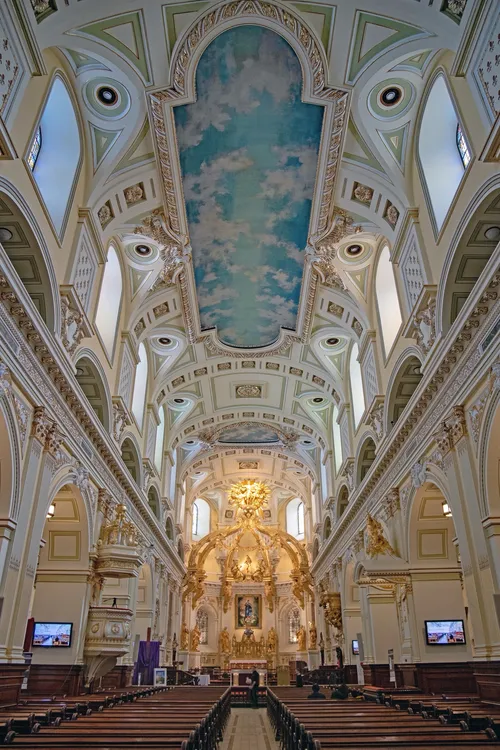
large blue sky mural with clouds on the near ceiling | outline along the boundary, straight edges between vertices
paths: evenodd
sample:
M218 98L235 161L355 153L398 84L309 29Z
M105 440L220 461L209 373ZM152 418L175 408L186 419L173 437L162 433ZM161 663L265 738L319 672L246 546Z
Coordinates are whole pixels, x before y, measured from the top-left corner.
M239 26L205 50L175 109L202 328L256 347L295 328L323 107L289 44Z

